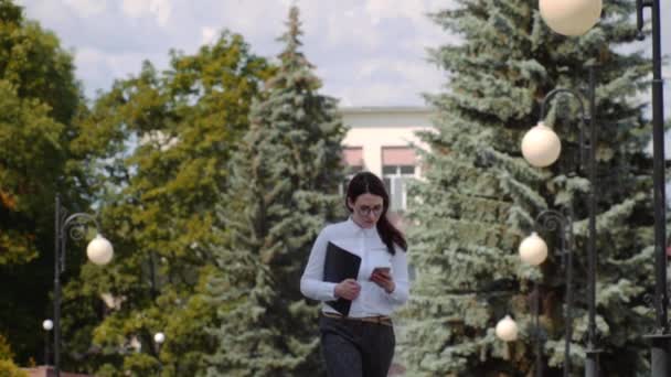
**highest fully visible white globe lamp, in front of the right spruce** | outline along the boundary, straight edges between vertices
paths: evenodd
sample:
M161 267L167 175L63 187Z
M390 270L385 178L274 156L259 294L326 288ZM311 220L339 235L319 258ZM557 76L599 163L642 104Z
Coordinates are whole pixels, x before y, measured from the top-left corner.
M522 155L536 168L552 165L560 158L562 141L554 130L543 122L532 127L522 138Z

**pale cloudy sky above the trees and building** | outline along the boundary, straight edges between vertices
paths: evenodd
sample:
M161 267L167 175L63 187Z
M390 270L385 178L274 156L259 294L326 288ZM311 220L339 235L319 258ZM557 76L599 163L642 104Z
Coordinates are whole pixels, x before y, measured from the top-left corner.
M223 29L244 35L255 54L274 57L292 0L18 0L28 18L56 33L73 51L86 95L139 73L145 60L168 66L171 49L192 54ZM341 106L423 106L445 74L427 62L427 47L455 41L426 14L450 0L298 0L303 52L317 66L323 93ZM671 1L661 1L662 20ZM649 19L649 15L647 15ZM662 50L671 53L671 20L662 21ZM650 40L646 43L650 45ZM671 104L671 68L664 68ZM667 105L667 109L671 106ZM667 110L667 118L671 116Z

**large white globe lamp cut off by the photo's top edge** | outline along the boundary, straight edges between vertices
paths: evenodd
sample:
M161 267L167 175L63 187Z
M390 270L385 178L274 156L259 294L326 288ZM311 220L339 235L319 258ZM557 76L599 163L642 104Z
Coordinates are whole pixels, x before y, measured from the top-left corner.
M540 0L543 21L563 35L582 35L592 29L601 15L601 0Z

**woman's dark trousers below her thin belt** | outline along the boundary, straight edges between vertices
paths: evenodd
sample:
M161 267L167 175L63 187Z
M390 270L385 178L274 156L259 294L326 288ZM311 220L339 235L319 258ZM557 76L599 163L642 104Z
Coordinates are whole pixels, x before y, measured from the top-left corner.
M394 327L320 316L319 331L329 377L386 377L396 345Z

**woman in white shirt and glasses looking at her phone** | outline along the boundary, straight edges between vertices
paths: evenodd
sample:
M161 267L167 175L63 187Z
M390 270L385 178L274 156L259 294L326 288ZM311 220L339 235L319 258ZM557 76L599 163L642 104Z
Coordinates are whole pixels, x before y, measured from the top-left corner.
M374 174L362 172L350 181L345 205L350 218L324 227L317 237L300 291L324 302L319 330L328 375L383 377L395 346L390 315L408 298L407 244L386 217L390 197ZM361 258L355 278L324 281L331 244ZM351 301L344 315L334 308L339 299Z

